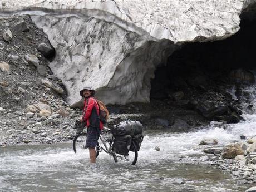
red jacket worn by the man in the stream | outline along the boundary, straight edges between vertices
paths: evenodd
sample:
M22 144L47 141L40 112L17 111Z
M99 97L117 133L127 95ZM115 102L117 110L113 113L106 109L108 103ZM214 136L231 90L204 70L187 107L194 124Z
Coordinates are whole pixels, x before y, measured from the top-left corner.
M97 115L100 115L99 105L97 103L97 100L94 97L88 97L85 99L84 105L83 105L83 121L86 121L86 126L88 127L90 125L90 116L92 114L93 107L96 107ZM99 120L100 121L100 120ZM103 124L100 121L100 130L103 129Z

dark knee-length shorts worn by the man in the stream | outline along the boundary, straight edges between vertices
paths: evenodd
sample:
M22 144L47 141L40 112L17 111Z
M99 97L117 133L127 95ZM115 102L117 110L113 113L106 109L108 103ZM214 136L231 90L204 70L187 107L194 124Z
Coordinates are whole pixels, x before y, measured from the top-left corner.
M87 128L85 148L95 148L100 134L101 130L99 128L89 126Z

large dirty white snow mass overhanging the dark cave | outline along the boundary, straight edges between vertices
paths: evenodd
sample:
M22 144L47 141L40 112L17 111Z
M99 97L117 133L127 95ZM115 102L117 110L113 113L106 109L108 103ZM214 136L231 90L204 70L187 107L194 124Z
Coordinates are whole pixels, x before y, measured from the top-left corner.
M106 103L149 102L157 66L184 42L215 41L239 30L255 0L0 1L3 13L28 13L56 49L50 68L68 102L91 85Z

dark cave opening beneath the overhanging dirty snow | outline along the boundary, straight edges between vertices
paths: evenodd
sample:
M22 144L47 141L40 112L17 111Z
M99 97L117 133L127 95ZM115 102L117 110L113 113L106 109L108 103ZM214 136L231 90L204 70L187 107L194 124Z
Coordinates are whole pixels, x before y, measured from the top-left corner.
M157 67L151 80L150 99L188 99L195 91L234 85L241 78L242 83L252 83L256 69L255 34L256 17L244 14L240 30L232 37L181 46L168 58L166 66Z

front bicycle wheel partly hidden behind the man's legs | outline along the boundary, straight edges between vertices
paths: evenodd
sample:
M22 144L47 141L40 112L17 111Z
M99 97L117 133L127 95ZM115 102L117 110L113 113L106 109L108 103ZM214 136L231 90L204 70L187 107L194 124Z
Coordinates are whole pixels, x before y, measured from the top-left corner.
M89 150L88 148L85 149L85 144L86 144L86 132L82 132L81 134L78 134L75 136L75 138L73 139L73 150L75 153L77 154L85 154L88 153L89 154ZM99 147L99 143L97 142L97 146ZM96 150L96 158L99 155L99 150Z

